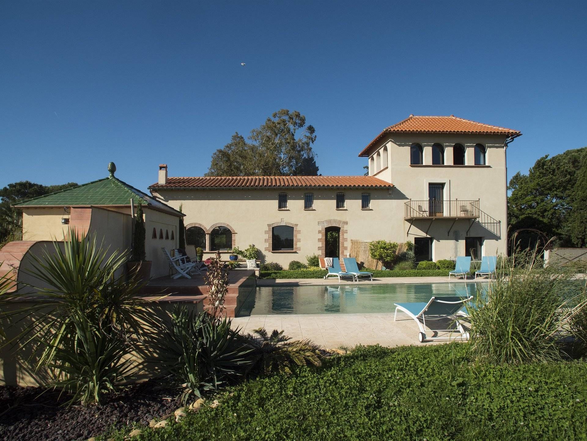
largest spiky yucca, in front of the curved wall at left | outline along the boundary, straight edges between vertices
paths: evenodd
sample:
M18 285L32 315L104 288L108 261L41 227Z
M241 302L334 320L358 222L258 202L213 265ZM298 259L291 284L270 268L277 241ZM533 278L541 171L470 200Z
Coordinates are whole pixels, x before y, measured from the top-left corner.
M39 301L6 315L20 319L19 347L32 346L34 368L52 373L48 384L86 405L125 381L134 367L125 356L141 350L158 319L146 309L141 282L122 274L126 253L103 248L95 236L72 230L68 237L33 255L26 274L38 282L9 296L19 301L32 291Z

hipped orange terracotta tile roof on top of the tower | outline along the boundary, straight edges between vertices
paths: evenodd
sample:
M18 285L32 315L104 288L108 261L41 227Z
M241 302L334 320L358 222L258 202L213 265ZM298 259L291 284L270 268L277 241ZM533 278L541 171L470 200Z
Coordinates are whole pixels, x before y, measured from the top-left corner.
M414 116L410 115L403 121L393 126L386 127L383 132L367 144L359 156L367 156L369 149L377 143L386 133L458 133L458 134L503 134L505 136L520 136L518 130L506 129L505 127L490 126L489 124L478 123L468 119L451 116Z

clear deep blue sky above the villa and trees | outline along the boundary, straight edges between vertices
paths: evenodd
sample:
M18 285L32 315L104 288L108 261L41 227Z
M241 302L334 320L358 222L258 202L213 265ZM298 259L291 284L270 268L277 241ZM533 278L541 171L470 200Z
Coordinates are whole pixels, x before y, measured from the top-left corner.
M282 108L322 174L362 174L414 113L521 130L511 176L587 145L586 23L585 1L2 0L0 186L201 176Z

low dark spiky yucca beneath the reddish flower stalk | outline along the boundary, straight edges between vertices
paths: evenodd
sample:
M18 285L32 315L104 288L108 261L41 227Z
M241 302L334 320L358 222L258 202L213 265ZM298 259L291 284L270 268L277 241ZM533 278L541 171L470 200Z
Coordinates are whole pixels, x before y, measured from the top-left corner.
M229 319L185 305L174 307L153 350L156 357L151 361L161 366L171 382L183 386L183 402L235 381L254 362L252 349L239 338L238 329L231 329Z

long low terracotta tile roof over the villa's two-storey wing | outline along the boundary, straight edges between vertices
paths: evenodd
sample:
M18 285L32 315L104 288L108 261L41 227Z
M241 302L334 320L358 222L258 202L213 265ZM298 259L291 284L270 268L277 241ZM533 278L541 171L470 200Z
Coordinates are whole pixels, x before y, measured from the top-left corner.
M271 187L381 187L393 184L372 176L214 176L169 177L167 184L153 184L158 188L271 188Z

